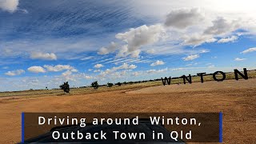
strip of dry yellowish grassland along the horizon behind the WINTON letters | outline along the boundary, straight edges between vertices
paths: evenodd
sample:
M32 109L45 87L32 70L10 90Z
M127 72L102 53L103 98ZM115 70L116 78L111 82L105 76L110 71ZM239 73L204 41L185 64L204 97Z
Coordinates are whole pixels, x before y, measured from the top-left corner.
M248 70L248 78L256 78L256 70ZM242 72L243 74L243 72ZM217 78L220 78L220 75L217 75ZM212 75L206 75L203 77L204 82L214 81ZM239 79L242 79L240 75L238 75ZM226 80L234 79L234 72L226 73ZM171 80L171 84L180 84L183 82L182 78L175 78ZM200 82L200 77L195 76L192 77L192 82ZM93 94L99 92L106 92L106 91L113 91L113 90L130 90L130 89L141 89L144 87L149 86L162 86L162 81L154 81L154 82L139 82L139 83L132 83L132 84L122 84L122 86L113 86L113 87L106 87L101 86L98 90L94 90L92 87L86 88L71 88L70 94L71 95L78 95L78 94ZM0 92L0 98L2 97L17 97L17 96L26 96L28 98L31 97L43 97L43 96L56 96L56 95L63 95L63 90L23 90L23 91L7 91L7 92Z

